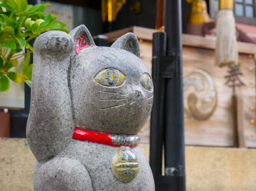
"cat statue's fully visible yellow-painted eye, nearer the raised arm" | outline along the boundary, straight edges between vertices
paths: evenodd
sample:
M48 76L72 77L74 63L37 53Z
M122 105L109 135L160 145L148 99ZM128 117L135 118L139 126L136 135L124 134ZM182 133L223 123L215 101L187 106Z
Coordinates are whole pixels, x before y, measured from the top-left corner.
M124 76L121 71L114 68L101 70L94 77L94 80L97 83L104 86L119 86L124 82L125 79L126 76Z

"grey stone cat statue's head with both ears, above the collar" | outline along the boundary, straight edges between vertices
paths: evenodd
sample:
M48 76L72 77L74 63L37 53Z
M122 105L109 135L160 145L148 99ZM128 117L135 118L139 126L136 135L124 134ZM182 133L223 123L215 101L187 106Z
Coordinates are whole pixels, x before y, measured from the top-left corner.
M129 32L111 47L98 47L84 25L69 35L75 43L69 85L76 127L137 134L151 112L153 83L136 36Z

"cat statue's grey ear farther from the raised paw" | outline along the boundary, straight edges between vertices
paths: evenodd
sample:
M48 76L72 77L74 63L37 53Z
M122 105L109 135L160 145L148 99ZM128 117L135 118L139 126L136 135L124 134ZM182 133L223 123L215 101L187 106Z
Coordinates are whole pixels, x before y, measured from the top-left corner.
M112 48L124 49L140 58L140 45L137 37L132 32L128 32L117 39Z

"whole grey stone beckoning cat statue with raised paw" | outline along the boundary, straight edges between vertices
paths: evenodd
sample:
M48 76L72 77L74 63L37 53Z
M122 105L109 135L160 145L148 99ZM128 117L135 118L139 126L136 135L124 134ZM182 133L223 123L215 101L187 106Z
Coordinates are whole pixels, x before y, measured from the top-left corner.
M153 84L132 33L97 47L84 26L35 42L26 135L34 190L155 190L137 133Z

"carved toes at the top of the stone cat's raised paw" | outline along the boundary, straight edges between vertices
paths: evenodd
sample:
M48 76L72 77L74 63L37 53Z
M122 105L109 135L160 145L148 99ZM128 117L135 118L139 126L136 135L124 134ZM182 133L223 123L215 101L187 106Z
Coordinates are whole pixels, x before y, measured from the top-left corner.
M73 50L73 40L69 36L49 36L46 37L44 48L58 53L67 53Z

